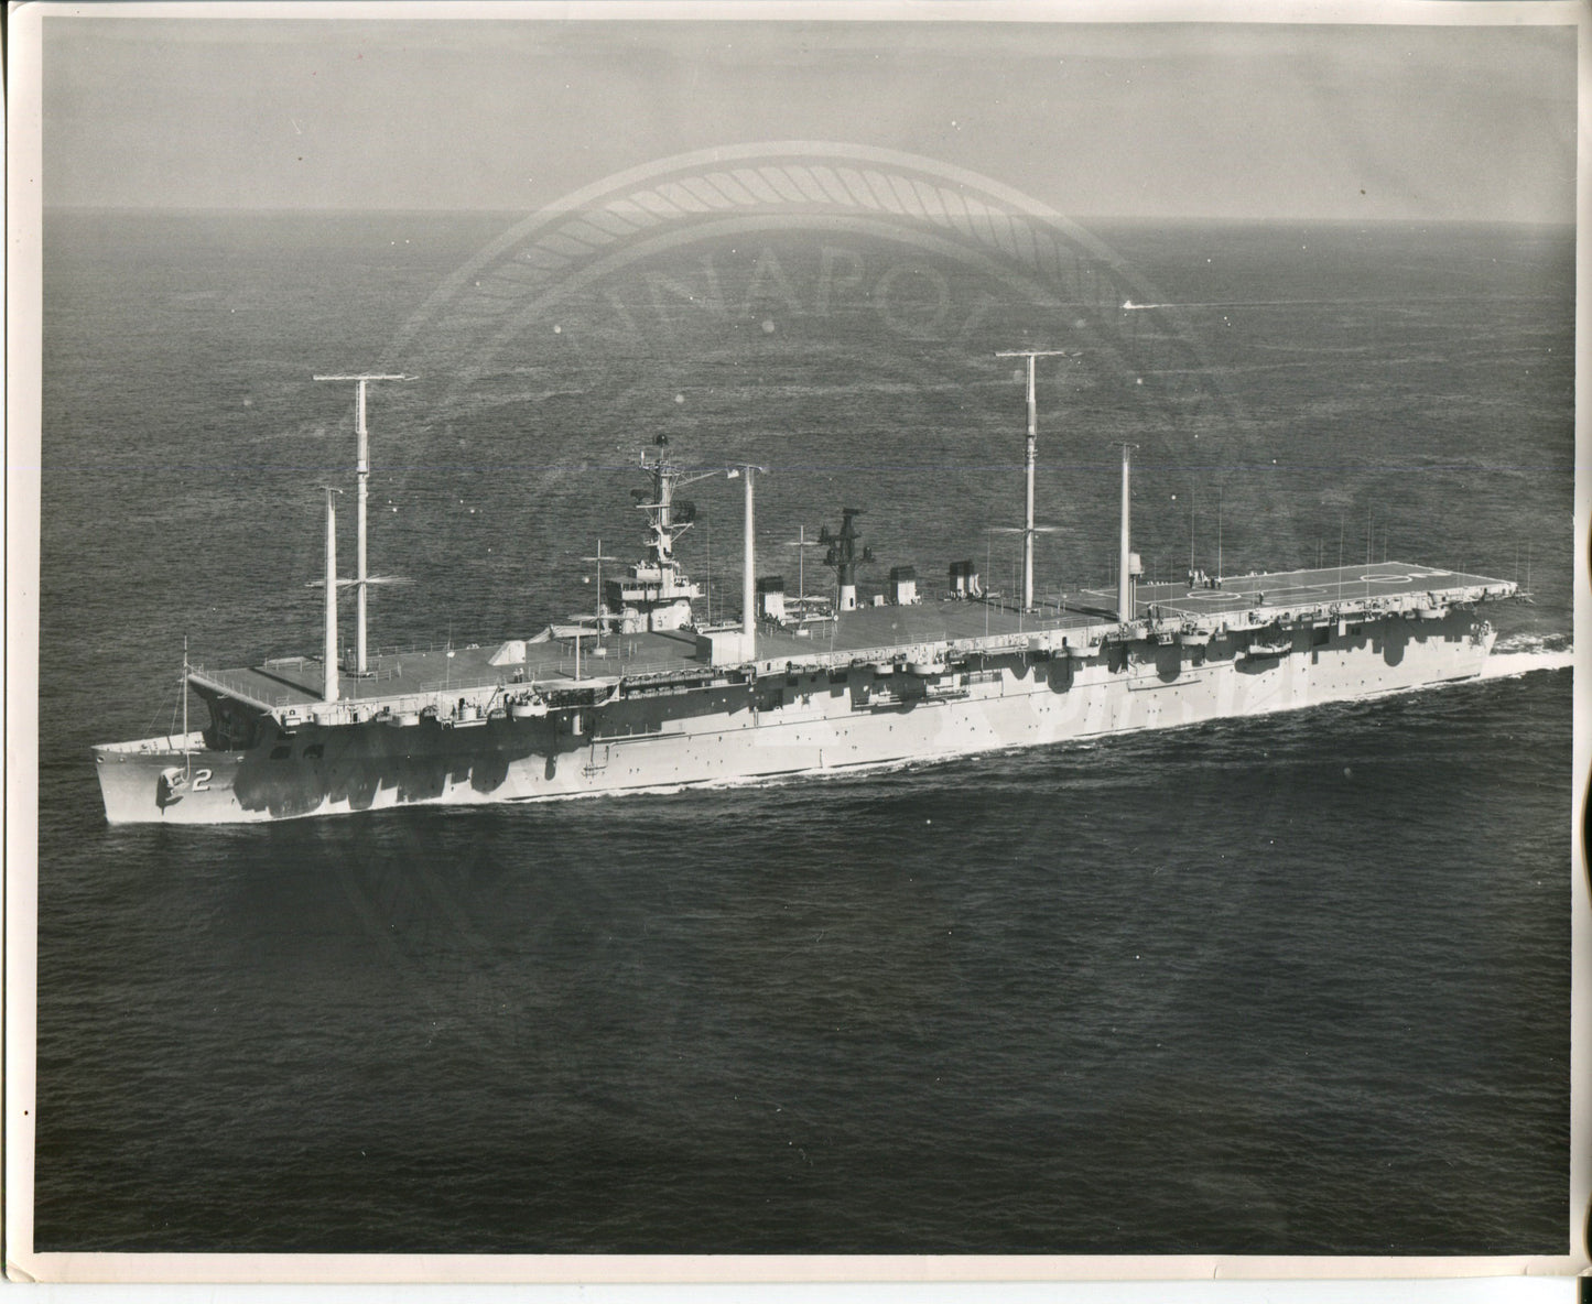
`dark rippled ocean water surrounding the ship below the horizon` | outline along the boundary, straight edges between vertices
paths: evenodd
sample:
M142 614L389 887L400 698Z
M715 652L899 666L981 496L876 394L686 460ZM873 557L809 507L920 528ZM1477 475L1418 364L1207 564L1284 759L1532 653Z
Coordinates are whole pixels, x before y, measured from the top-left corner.
M769 226L505 315L471 260L513 221L48 215L37 1248L1563 1251L1571 232L1097 226L1126 279L1075 303ZM654 433L767 467L759 570L844 505L864 578L1009 589L1011 347L1076 355L1041 363L1041 595L1110 580L1132 439L1153 573L1530 576L1492 613L1524 673L880 775L105 825L88 748L169 728L185 635L317 648L352 395L315 373L417 377L373 387L408 581L373 642L487 642L638 552ZM689 494L734 613L739 486Z

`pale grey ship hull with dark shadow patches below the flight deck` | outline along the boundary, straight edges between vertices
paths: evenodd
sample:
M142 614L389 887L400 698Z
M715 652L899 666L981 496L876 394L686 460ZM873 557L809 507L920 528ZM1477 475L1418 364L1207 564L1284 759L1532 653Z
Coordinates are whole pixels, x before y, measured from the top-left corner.
M201 736L96 748L111 823L242 823L546 801L936 761L1428 688L1482 672L1474 613L1299 627L1283 646L1105 642L962 664L793 666L686 691L451 726L306 721L247 750ZM194 745L197 740L197 747ZM174 745L175 744L175 745Z

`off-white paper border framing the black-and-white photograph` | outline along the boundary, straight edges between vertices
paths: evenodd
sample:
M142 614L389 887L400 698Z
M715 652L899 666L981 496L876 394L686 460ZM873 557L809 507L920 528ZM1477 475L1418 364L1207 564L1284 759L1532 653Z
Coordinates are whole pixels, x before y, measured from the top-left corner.
M710 3L702 0L584 0L583 3L127 3L68 5L32 3L10 14L8 59L8 242L6 242L6 947L5 947L5 1258L14 1280L46 1282L167 1282L167 1283L264 1283L264 1282L363 1282L363 1283L990 1283L990 1282L1210 1282L1210 1280L1326 1280L1398 1282L1406 1279L1508 1279L1568 1277L1587 1269L1582 1229L1592 1191L1587 1092L1587 944L1589 896L1586 850L1579 830L1584 815L1589 758L1587 701L1592 685L1578 673L1574 685L1574 798L1571 834L1576 844L1571 944L1571 1145L1568 1183L1571 1228L1563 1256L1501 1258L1275 1258L1235 1255L1167 1256L615 1256L615 1255L131 1255L131 1253L35 1253L32 1248L33 1099L37 1037L37 737L38 737L38 530L40 530L40 295L41 295L41 24L54 14L84 14L139 21L151 18L205 19L431 19L470 22L481 18L524 21L700 21L756 19L915 22L939 21L1055 21L1055 22L1331 22L1331 24L1578 24L1579 46L1579 154L1578 229L1587 220L1584 154L1592 140L1586 103L1589 53L1587 14L1574 0L1527 0L1527 3L1465 3L1436 0L1350 0L1345 3L1243 3L1232 0L1079 0L1070 3L849 3L823 0L769 0L769 3ZM1592 315L1587 295L1587 250L1578 242L1578 358L1576 387L1586 393L1587 344ZM1586 414L1576 411L1574 492L1574 643L1578 669L1587 667L1592 648L1592 613L1586 595L1587 540L1592 498L1586 474L1589 431ZM767 1298L778 1298L769 1291ZM162 1296L167 1298L167 1296ZM570 1298L597 1296L576 1293ZM659 1296L659 1298L667 1298ZM693 1298L700 1298L694 1293ZM904 1293L901 1298L907 1298ZM914 1293L911 1298L923 1298ZM971 1296L970 1296L971 1298ZM1162 1298L1161 1294L1154 1298ZM1363 1296L1360 1296L1363 1298ZM1527 1298L1525 1294L1517 1298ZM1536 1296L1532 1296L1536 1298Z

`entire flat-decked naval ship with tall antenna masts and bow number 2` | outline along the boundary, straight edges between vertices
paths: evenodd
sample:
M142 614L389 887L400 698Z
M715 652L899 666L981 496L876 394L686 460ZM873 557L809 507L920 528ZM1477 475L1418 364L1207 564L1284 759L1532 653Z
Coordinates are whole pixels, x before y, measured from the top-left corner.
M826 549L833 592L756 573L755 465L686 467L664 436L632 490L642 556L599 580L595 610L521 637L373 651L366 595L369 435L357 382L357 573L341 578L326 490L325 637L314 653L207 669L183 658L180 732L92 748L105 817L220 825L401 806L548 801L786 780L1048 747L1299 710L1476 678L1495 631L1482 605L1517 584L1436 565L1366 562L1146 583L1132 548L1122 446L1116 586L1036 602L1035 358L1027 358L1020 592L985 591L971 559L936 581L872 562L855 508ZM678 490L743 482L740 619L702 619L677 556L694 511ZM1017 527L1013 527L1016 532ZM599 565L602 551L599 546ZM1219 570L1219 567L1218 567ZM942 588L938 576L944 576ZM339 589L357 602L339 640ZM513 635L513 632L509 632ZM189 694L209 721L189 729Z

